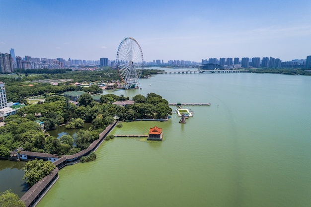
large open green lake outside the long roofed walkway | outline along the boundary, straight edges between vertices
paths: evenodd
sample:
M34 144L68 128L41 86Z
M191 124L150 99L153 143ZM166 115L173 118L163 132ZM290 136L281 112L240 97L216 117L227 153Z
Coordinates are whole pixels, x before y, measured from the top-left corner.
M123 123L113 134L162 128L164 141L115 138L97 160L60 170L38 207L310 207L311 77L163 74L133 97L155 92L191 106L179 124ZM174 109L174 107L172 107Z

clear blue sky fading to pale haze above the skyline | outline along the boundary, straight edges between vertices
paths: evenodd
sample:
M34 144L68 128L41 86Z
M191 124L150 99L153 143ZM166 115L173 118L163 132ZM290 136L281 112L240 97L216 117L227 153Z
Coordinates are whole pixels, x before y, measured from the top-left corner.
M0 53L115 60L126 37L144 61L311 55L310 0L0 0Z

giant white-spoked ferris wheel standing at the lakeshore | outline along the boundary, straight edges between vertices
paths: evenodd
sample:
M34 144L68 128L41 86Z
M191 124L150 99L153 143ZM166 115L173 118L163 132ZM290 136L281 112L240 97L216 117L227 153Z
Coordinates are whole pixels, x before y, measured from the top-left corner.
M117 52L117 69L124 89L139 88L139 78L144 69L141 46L132 38L122 40Z

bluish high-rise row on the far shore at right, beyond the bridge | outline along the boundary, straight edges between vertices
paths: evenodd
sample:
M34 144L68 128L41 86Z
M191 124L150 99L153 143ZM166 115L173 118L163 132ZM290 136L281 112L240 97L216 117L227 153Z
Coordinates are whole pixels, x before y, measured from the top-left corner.
M279 58L264 57L264 58L210 58L209 60L202 59L202 65L218 65L222 68L311 68L311 56L307 56L307 59L292 60L282 62Z

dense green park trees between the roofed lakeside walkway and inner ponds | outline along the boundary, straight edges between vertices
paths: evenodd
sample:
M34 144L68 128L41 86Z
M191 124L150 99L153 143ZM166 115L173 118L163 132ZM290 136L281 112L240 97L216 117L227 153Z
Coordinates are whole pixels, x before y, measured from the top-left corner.
M95 102L88 93L78 98L79 106L71 104L63 96L47 97L43 104L32 104L8 116L5 126L0 128L0 156L8 156L8 151L19 146L26 151L46 152L69 155L85 149L106 126L119 120L165 119L171 114L167 101L155 93L136 95L135 104L127 107L112 104L115 101L128 100L128 97L107 94L101 97L101 103ZM49 136L41 131L35 120L44 122L47 131L61 124L69 123L70 128L80 128L83 123L91 123L88 130L79 130L74 140L70 135L61 138Z

